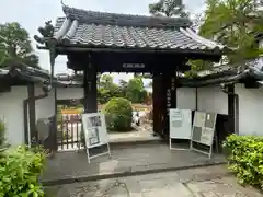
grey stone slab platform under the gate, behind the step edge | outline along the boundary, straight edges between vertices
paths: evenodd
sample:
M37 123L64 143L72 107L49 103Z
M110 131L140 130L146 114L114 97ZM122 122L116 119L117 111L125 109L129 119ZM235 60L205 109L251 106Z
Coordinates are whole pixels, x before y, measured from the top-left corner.
M88 163L87 154L82 152L60 152L47 161L42 182L81 178L94 179L102 175L144 173L152 171L167 171L207 163L225 162L222 155L207 155L193 151L169 150L167 144L129 146L126 149L113 149L112 157L100 157ZM90 178L90 179L89 179ZM103 177L105 178L105 177Z

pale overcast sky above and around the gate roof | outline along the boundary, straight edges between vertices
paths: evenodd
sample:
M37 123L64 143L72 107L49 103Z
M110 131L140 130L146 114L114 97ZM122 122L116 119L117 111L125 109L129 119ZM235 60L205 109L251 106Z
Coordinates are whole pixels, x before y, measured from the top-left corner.
M149 15L148 5L155 2L157 0L64 0L69 7L84 10L144 15ZM201 13L205 9L204 0L183 0L183 3L191 13ZM33 36L38 34L37 27L44 26L49 20L55 22L57 16L64 16L60 0L5 0L0 7L0 23L19 22L28 31L34 48L36 43ZM36 55L39 56L39 66L49 70L48 53L36 49ZM66 62L65 56L57 57L55 73L65 73ZM133 74L113 76L114 82L118 82L119 79L129 80L133 77Z

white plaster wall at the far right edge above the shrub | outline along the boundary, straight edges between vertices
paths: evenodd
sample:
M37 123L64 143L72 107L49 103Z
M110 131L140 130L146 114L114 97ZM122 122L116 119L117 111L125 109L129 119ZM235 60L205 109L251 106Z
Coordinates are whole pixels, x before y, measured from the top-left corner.
M239 95L239 134L263 136L263 88L245 89L236 84L235 92Z

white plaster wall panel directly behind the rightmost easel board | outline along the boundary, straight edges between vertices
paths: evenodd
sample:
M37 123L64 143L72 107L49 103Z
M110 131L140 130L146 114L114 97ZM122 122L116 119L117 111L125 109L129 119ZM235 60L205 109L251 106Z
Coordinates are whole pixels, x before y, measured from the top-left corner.
M220 86L197 89L197 111L228 114L228 95Z

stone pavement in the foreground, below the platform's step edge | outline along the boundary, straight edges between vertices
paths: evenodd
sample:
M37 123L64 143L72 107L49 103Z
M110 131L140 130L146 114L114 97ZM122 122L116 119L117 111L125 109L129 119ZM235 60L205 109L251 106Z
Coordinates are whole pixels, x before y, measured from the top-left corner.
M262 197L226 165L45 187L47 197Z

